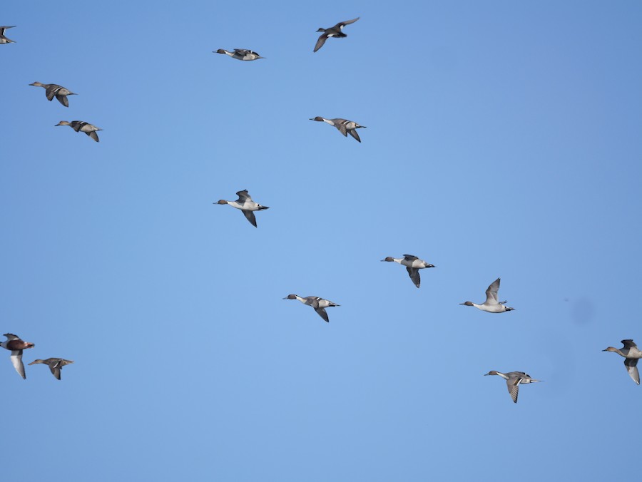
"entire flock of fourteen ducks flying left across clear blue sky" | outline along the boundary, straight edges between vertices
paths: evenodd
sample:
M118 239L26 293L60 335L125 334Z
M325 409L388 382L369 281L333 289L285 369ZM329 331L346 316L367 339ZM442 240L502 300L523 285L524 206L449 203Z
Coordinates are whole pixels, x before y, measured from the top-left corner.
M315 44L314 51L315 52L318 51L322 46L324 46L325 41L327 41L327 39L330 39L331 37L334 37L337 39L346 37L347 35L343 33L343 28L346 25L354 24L355 21L359 19L360 17L357 17L356 19L339 22L335 26L332 26L328 29L323 29L323 28L318 29L317 32L322 32L322 34L319 36L319 39L317 39L317 43ZM0 44L15 43L13 40L8 39L4 35L6 29L13 29L14 26L0 26ZM233 51L227 51L223 48L219 48L218 50L213 52L221 53L223 55L230 56L240 61L255 61L255 60L258 60L259 58L265 58L260 56L255 51L251 51L245 48L235 48ZM53 101L55 97L58 100L58 102L60 102L65 107L69 106L69 101L67 99L67 96L77 95L76 93L69 91L67 88L64 88L63 86L59 86L58 84L55 84L55 83L34 82L34 83L30 83L29 85L44 88L45 95L48 101ZM316 120L317 122L325 122L327 124L333 125L345 137L347 137L347 135L350 134L352 135L353 138L355 138L359 142L361 142L361 139L359 137L359 134L357 133L357 129L365 128L365 125L359 125L352 120L347 120L342 118L326 119L326 118L317 116L315 118L310 118L310 120ZM96 142L100 142L100 140L98 139L98 134L96 132L102 129L96 127L96 125L92 125L90 123L86 123L81 120L72 120L71 122L68 122L66 120L61 120L59 123L56 124L56 126L58 125L69 125L76 132L86 133L86 135L88 135L90 138L92 138ZM238 210L241 210L241 212L243 212L243 215L245 215L245 218L254 227L257 227L256 217L254 215L254 212L260 211L260 210L266 210L269 208L267 206L262 206L257 202L254 202L253 199L250 197L248 190L238 191L238 193L236 194L238 195L238 199L235 201L227 201L222 199L222 200L219 200L218 202L215 202L214 204L220 204L220 205L226 204L226 205L235 207ZM414 256L414 255L404 255L404 257L402 258L395 258L395 257L388 256L388 257L385 257L382 260L382 262L383 261L396 262L399 265L405 266L408 272L408 275L410 277L410 280L417 288L419 288L419 285L421 284L421 277L419 276L419 270L423 270L424 268L434 268L434 265L431 265L430 263L425 262L424 260L420 260L417 256ZM475 307L477 309L481 309L481 311L489 312L489 313L504 313L504 312L509 312L514 310L514 308L506 306L506 301L503 301L503 302L499 301L499 297L498 297L499 282L500 282L500 279L497 278L486 289L485 302L481 304L477 304L477 303L467 301L460 304L464 306ZM313 309L315 309L315 312L317 312L317 314L319 314L319 316L325 322L330 322L330 319L327 316L327 312L325 311L325 309L330 307L340 306L339 304L336 304L335 302L331 302L328 299L323 299L316 296L300 297L298 294L288 294L287 297L283 299L297 299L303 304L306 304L312 307ZM0 343L0 347L7 349L11 352L11 363L14 365L18 374L22 376L23 379L26 379L24 364L22 362L22 352L24 349L34 348L35 345L33 343L24 342L22 339L20 339L20 337L18 337L15 334L6 333L4 334L4 336L6 337L6 341ZM636 346L636 344L633 342L632 339L622 340L622 344L623 344L623 347L621 349L617 349L614 347L607 347L606 349L603 350L603 352L613 352L623 357L624 367L626 368L627 373L629 374L629 376L631 376L631 379L633 379L633 381L635 381L636 384L639 385L640 374L638 373L637 364L638 364L638 359L642 358L642 351L638 349L638 347ZM36 359L34 361L31 361L29 365L46 364L47 366L49 366L49 369L51 370L51 374L53 374L56 377L56 379L60 380L62 367L72 363L73 361L62 359L62 358L48 358L44 360ZM536 380L531 378L531 376L529 376L529 374L524 373L524 371L510 371L509 373L502 373L501 371L491 370L486 375L498 375L498 376L501 376L501 378L505 379L506 386L508 388L509 394L511 395L511 399L515 403L517 403L517 396L519 393L520 384L530 384L530 383L541 381L541 380Z

